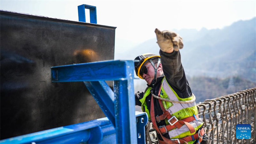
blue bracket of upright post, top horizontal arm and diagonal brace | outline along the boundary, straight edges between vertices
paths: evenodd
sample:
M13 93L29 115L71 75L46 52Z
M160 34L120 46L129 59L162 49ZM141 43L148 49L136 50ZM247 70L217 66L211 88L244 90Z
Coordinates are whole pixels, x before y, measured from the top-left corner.
M133 61L100 61L52 67L52 82L84 81L116 129L116 143L137 143ZM114 92L104 82L114 80ZM144 137L145 138L145 137ZM138 139L138 140L137 140ZM144 143L145 143L145 139ZM141 141L140 141L141 142Z

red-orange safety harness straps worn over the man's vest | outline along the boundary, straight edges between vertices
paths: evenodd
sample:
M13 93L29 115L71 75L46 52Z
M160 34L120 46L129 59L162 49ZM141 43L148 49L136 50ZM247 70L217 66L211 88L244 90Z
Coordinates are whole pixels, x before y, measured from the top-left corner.
M160 91L161 91L161 88L159 89L159 92L158 92L158 97L160 97ZM198 120L199 117L198 115L193 115L193 116L190 116L190 117L187 117L187 118L184 118L184 119L181 119L181 120L178 120L175 116L172 116L167 110L165 110L164 106L163 106L163 103L162 103L162 100L159 100L159 104L163 110L163 114L161 116L156 116L155 117L155 111L154 111L154 101L153 101L153 93L151 92L152 94L152 97L151 97L151 103L150 103L150 116L151 116L151 121L152 121L152 124L153 124L153 128L156 129L157 133L161 135L162 140L159 140L159 143L160 144L164 144L164 143L167 143L167 144L183 144L183 143L186 143L189 142L189 141L192 141L192 140L197 140L197 144L200 144L201 141L203 140L203 135L204 135L204 128L202 128L201 130L198 130L197 133L195 133L194 135L191 135L191 136L186 136L184 138L181 138L181 139L168 139L166 137L164 137L162 134L165 134L165 133L168 133L168 131L172 130L172 129L175 129L175 128L180 128L182 125L186 125L190 131L190 133L194 133L196 132L194 127L189 124L189 122L192 122L194 120ZM168 122L170 124L168 125L163 125L163 126L159 126L157 127L157 124L156 124L156 121L159 123L161 120L164 120L165 118L168 119Z

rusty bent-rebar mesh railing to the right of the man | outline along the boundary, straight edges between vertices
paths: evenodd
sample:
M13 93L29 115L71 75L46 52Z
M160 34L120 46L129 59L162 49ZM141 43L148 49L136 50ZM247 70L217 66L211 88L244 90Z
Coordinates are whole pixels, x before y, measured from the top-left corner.
M251 88L197 104L208 143L256 143L255 101L256 88ZM251 138L236 139L236 124L251 124Z

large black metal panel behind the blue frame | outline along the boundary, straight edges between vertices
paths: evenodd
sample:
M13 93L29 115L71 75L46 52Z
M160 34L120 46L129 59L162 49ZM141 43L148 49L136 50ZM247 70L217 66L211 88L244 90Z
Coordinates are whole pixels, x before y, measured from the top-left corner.
M115 28L1 11L1 139L104 117L83 82L52 83L50 67L114 59Z

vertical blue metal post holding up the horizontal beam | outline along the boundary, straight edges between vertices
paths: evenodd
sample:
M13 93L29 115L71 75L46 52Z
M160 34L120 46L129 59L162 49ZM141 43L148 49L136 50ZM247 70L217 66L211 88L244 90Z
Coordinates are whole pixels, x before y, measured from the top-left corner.
M116 143L137 143L133 71L133 61L126 61L126 78L114 81Z

